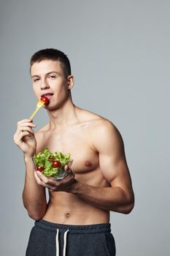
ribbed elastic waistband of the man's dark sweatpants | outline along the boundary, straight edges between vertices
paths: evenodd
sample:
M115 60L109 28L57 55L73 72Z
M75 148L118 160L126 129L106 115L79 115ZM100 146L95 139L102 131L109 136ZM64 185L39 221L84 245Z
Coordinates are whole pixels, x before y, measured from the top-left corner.
M53 222L47 222L45 219L40 219L35 222L35 226L41 227L42 229L54 231L60 230L60 232L65 232L69 230L69 233L77 234L90 234L90 233L110 233L111 225L110 223L101 223L93 225L65 225Z

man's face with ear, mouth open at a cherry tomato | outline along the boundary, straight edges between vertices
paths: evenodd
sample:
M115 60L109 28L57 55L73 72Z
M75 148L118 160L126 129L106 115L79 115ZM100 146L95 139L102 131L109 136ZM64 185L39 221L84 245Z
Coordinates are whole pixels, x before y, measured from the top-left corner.
M69 76L72 77L72 76ZM50 99L48 109L59 107L69 97L70 80L65 78L59 61L43 60L31 67L31 79L37 99Z

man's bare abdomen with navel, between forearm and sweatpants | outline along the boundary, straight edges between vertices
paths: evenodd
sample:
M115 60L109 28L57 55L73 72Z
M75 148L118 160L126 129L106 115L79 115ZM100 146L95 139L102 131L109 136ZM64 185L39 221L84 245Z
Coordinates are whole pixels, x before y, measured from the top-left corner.
M60 224L93 225L109 222L109 211L92 206L76 195L53 192L43 219Z

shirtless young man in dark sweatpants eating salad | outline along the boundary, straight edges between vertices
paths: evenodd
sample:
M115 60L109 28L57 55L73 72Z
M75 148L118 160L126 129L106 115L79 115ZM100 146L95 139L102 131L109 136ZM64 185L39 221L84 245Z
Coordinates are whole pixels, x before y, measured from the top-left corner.
M106 118L74 105L74 77L60 50L35 53L30 72L36 98L45 95L50 103L45 106L45 127L34 134L35 124L24 119L14 135L26 164L23 204L36 221L26 255L115 255L109 211L129 214L134 207L121 135ZM68 175L61 181L34 170L31 157L46 146L74 159L72 169L65 166Z

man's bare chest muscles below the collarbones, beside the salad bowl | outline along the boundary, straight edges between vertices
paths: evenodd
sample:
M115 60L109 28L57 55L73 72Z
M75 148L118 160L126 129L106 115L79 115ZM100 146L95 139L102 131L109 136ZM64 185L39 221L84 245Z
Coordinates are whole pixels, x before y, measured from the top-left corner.
M75 173L87 173L96 170L99 165L98 152L93 146L90 133L80 131L48 132L39 141L38 151L48 147L51 152L60 151L71 154L72 170Z

